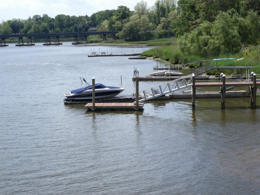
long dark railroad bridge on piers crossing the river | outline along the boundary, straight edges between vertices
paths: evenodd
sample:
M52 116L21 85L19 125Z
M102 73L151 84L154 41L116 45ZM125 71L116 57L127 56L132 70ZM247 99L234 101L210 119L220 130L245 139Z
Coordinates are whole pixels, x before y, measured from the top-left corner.
M79 44L79 41L81 40L83 41L83 43L87 43L87 36L89 35L103 35L103 41L106 41L107 35L112 35L115 38L115 35L117 33L119 33L119 31L0 35L0 47L8 46L8 44L5 43L5 39L14 37L18 37L18 44L16 44L15 46L33 46L35 44L32 42L32 37L45 37L45 43L43 45L61 45L62 43L60 43L59 40L61 36L74 36L74 42L72 42L72 44L74 45Z

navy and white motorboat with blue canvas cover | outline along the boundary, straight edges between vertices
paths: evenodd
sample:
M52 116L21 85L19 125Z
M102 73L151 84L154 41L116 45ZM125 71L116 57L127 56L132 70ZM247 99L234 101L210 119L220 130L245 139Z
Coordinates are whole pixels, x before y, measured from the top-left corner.
M83 81L86 82L86 80L83 78ZM64 96L66 97L67 101L70 100L91 100L92 99L92 85L86 86L71 90L69 93L65 93ZM106 98L112 98L116 95L120 94L124 88L121 87L110 87L105 86L101 83L95 84L95 99L106 99Z

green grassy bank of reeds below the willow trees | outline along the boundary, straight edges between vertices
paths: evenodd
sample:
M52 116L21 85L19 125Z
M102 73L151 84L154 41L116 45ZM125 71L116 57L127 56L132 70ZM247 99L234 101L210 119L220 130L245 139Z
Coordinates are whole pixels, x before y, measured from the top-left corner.
M158 41L151 41L151 42L160 42ZM162 41L165 42L165 41ZM208 60L211 62L212 66L216 66L216 61L212 61L213 59L223 59L223 58L235 58L241 59L239 61L235 60L225 60L225 61L218 61L218 67L221 66L254 66L254 68L250 69L250 71L256 72L260 74L260 45L258 46L248 46L241 50L239 53L236 54L228 54L223 53L219 56L208 56L208 57L202 57L202 56L195 56L195 55L188 55L185 53L182 53L179 48L176 39L171 41L170 45L164 45L161 47L153 48L147 51L144 51L141 55L142 56L148 56L148 57L154 57L154 58L161 58L166 61L171 61L172 64L186 64L190 62L197 62L197 61L203 61ZM257 60L258 59L258 60ZM199 66L199 63L195 64L189 64L186 66L187 68L197 68ZM237 74L245 72L245 70L223 70L224 74ZM218 75L219 72L217 70L212 70L207 73L208 75Z

